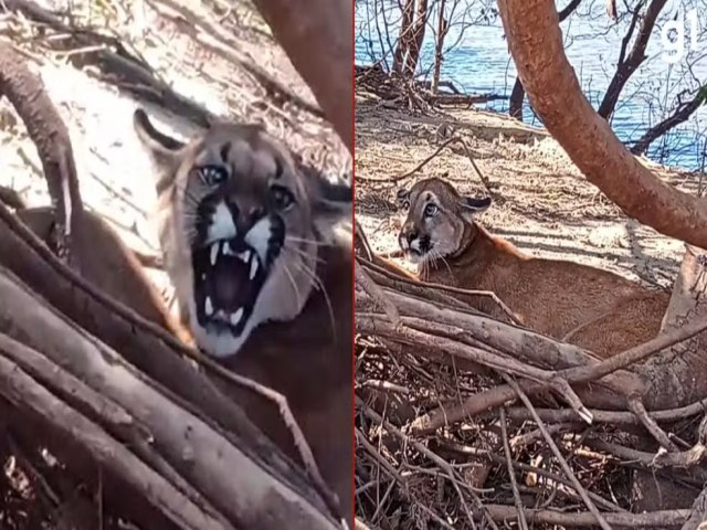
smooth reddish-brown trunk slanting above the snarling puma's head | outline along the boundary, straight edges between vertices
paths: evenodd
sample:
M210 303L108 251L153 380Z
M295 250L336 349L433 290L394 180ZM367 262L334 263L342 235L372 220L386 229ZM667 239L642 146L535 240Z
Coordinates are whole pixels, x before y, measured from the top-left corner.
M255 0L347 149L354 149L354 10L347 0ZM314 17L309 14L316 12ZM316 50L317 60L312 60ZM342 104L345 102L345 104Z

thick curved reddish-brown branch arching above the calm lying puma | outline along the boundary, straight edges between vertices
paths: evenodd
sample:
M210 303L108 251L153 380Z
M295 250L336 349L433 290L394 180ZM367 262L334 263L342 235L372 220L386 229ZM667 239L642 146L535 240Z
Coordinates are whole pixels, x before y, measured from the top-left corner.
M641 223L707 248L707 201L656 178L594 112L564 55L552 0L499 0L498 7L532 108L587 179Z

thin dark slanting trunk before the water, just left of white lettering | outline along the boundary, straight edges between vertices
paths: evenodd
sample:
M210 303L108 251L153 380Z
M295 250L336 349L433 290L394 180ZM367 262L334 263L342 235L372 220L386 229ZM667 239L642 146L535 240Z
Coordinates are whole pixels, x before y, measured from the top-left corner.
M603 118L609 119L609 117L613 114L614 108L616 108L616 102L619 100L619 96L621 95L621 91L626 85L629 78L633 75L633 73L641 66L641 64L647 59L645 54L645 49L648 45L648 41L651 40L651 33L653 32L653 28L655 26L655 20L657 19L661 10L665 7L667 0L653 0L648 8L645 10L645 14L641 20L641 25L639 26L639 35L633 43L633 47L629 55L624 59L623 55L625 53L626 45L631 39L633 33L633 24L631 24L631 29L629 33L624 36L624 42L621 46L621 54L619 56L619 65L616 66L616 72L609 83L609 88L606 88L606 94L604 94L604 98L599 106L599 115ZM639 11L641 10L641 4L636 7L636 13L634 15L639 17Z

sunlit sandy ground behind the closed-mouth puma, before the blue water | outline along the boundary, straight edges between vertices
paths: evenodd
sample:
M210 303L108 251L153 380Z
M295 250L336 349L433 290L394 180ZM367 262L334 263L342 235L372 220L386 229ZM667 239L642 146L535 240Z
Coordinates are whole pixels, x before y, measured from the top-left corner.
M386 108L374 96L359 92L356 212L376 252L398 250L401 220L394 197L399 187L447 173L461 191L486 194L463 148L454 144L421 171L399 182L389 181L412 170L443 144L437 134L443 124L464 138L499 195L478 218L493 234L536 256L581 262L648 284L673 284L683 243L624 215L587 182L544 130L474 109L415 117ZM698 176L643 162L679 189L695 191L698 186Z

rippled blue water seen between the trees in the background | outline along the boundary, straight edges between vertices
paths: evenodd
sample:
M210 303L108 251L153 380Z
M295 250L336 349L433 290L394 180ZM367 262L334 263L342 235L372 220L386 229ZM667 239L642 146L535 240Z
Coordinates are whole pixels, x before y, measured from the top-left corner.
M451 3L447 2L447 4ZM463 4L464 0L460 3ZM469 1L469 3L473 2ZM605 14L604 1L583 3L588 6L580 4L580 9L562 22L562 34L567 56L574 67L584 94L594 108L598 108L615 70L627 20L612 23ZM677 10L678 3L680 2L677 0L668 1L662 12L658 28L654 31L646 50L648 59L624 87L611 118L614 132L627 145L637 140L652 125L669 115L669 106L674 104L677 94L685 89L694 91L699 86L700 81L707 82L707 59L701 59L706 55L704 52L707 51L707 40L698 41L697 47L689 50L689 23L687 22L686 50L683 60L675 65L664 61L665 50L659 31L662 24L667 19L674 18L676 13L678 19L683 18L683 11ZM388 24L383 23L382 6L386 9L384 19L388 20ZM398 35L400 18L397 6L397 0L394 3L390 0L357 1L357 64L371 64L382 59L384 65L392 65L390 50ZM378 13L376 13L377 10ZM707 8L698 8L698 15L701 19L698 22L699 34L703 25L707 26L703 24L707 20ZM472 6L466 20L474 18L479 18L479 9L474 9ZM458 13L452 20L452 29L445 40L445 46L454 45L454 47L445 54L441 78L452 81L460 91L465 93L493 93L508 96L516 78L516 68L508 53L500 19L492 17L488 20L475 20L464 31L454 24L454 21L461 20ZM434 56L434 34L431 25L436 26L436 15L433 23L428 25L418 71L420 78L428 80L432 77ZM694 76L687 73L688 64ZM485 108L507 113L508 102L507 99L490 102ZM527 98L524 119L528 124L541 125L528 107ZM703 170L707 148L706 126L707 107L703 106L689 120L654 141L647 156L668 166Z

